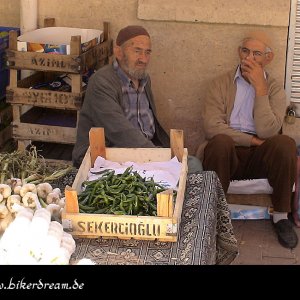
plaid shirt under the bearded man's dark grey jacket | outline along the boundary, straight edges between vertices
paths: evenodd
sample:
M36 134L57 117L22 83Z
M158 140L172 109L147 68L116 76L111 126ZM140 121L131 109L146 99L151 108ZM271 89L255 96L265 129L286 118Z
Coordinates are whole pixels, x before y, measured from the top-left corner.
M126 118L135 127L151 140L155 133L153 112L145 92L147 77L139 80L139 87L135 89L131 79L120 68L117 60L113 62L114 70L122 83L122 109Z

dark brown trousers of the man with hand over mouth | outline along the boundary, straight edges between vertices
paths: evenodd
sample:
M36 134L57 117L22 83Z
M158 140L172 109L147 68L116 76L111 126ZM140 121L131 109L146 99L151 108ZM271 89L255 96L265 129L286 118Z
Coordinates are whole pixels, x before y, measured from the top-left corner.
M218 174L225 193L230 180L267 178L274 210L290 212L296 161L296 143L286 135L271 137L260 146L236 147L231 137L219 134L204 149L203 168Z

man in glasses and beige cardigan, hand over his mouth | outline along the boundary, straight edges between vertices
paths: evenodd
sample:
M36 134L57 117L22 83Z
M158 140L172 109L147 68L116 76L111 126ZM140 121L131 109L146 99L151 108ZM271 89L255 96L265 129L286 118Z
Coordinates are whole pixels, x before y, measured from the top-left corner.
M204 170L218 174L225 193L230 180L267 178L273 187L273 225L280 244L294 248L297 234L288 220L297 151L280 134L286 111L283 88L267 73L274 57L264 31L245 35L240 64L213 80L201 111L206 141L197 156Z

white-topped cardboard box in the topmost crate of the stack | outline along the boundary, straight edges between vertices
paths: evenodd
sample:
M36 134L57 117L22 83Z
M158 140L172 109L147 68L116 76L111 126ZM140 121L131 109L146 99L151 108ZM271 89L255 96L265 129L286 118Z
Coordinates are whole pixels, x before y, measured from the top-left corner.
M81 51L86 52L103 42L103 31L71 27L45 27L18 37L18 51L70 54L72 36L81 36Z

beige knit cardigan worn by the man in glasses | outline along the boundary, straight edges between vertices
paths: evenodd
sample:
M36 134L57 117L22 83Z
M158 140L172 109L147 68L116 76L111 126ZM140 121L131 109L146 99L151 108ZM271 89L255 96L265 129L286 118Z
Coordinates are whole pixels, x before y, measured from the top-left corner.
M235 73L236 69L219 76L208 87L201 110L206 140L199 146L196 154L200 160L203 160L207 141L217 134L231 136L237 146L250 146L251 135L229 127L236 94L236 83L233 81ZM261 139L267 139L280 132L286 110L286 95L283 88L268 74L267 82L268 95L255 97L254 100L254 123L257 136Z

